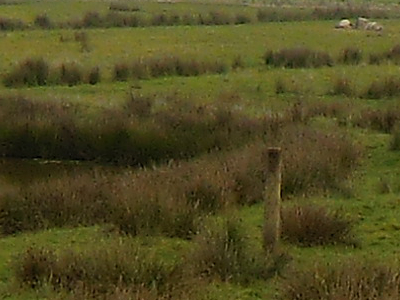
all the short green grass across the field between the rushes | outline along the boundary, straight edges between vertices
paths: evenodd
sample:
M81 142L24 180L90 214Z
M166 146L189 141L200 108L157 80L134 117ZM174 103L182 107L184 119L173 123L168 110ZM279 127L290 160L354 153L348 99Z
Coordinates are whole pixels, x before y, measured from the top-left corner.
M235 2L235 1L232 1ZM382 3L393 2L391 0ZM236 3L236 2L235 2ZM254 4L268 3L254 1ZM87 10L105 12L108 2L34 2L20 5L1 5L0 15L21 18L32 22L43 11L55 20L66 20L81 16ZM157 4L141 2L145 12L163 9L184 11L208 11L216 8L204 4ZM242 9L232 6L232 11ZM360 99L345 98L329 94L334 80L340 76L349 78L357 93L361 93L374 78L396 75L398 66L335 66L319 69L270 69L263 65L262 56L267 49L306 46L311 49L327 51L333 57L348 47L363 50L364 61L369 53L390 49L400 35L400 22L382 21L385 30L382 35L364 31L334 30L332 21L250 24L245 26L202 26L202 27L149 27L125 29L86 30L91 51L82 52L80 45L73 41L73 30L30 30L1 32L0 73L9 71L19 61L31 56L43 56L52 64L64 61L77 61L84 66L99 65L105 72L105 80L98 85L76 87L35 87L6 89L0 87L2 95L25 95L37 101L67 100L78 103L79 114L90 118L99 108L118 107L126 94L133 89L143 94L170 95L177 93L183 98L198 103L213 101L233 102L249 115L262 115L271 111L280 112L295 102L334 103L352 105L355 111L361 109L383 109L398 105L398 98ZM61 42L60 37L70 41ZM174 53L182 56L196 56L202 59L220 58L231 61L241 55L246 67L221 75L200 77L166 77L152 80L137 80L126 83L111 82L111 69L116 62L139 56L152 56L161 53ZM281 78L293 88L294 92L275 94L276 79ZM161 97L160 97L161 98ZM162 99L160 100L160 103ZM164 105L161 103L159 105ZM330 128L336 120L318 117L310 121L310 126ZM291 255L289 268L307 269L315 262L335 263L340 259L360 260L379 257L389 264L400 259L400 152L390 151L390 134L369 129L346 127L350 135L366 146L366 152L347 197L329 195L290 199L284 206L298 203L315 203L330 209L339 209L354 220L354 233L359 238L359 247L319 246L304 248L287 243L283 248ZM83 167L85 168L85 167ZM67 168L68 169L68 168ZM31 167L26 172L32 170ZM21 172L21 171L19 171ZM46 176L49 170L42 169ZM50 171L51 172L51 171ZM69 171L68 171L69 172ZM8 173L8 178L20 177L12 166L0 163L0 174ZM10 175L11 174L11 175ZM6 175L7 176L7 175ZM40 177L40 176L38 176ZM20 179L21 180L21 179ZM36 178L40 180L40 178ZM21 180L28 184L29 178ZM254 247L261 246L263 205L243 207L237 212L241 217L247 235ZM108 243L129 241L153 251L167 262L176 262L193 247L193 242L160 237L122 237L102 227L51 229L36 233L23 233L11 237L0 237L0 298L5 299L46 299L54 298L51 289L21 289L15 285L10 262L30 246L51 246L61 251L64 248L84 249L87 245L107 247ZM285 270L283 271L285 273ZM283 274L284 275L284 274ZM214 281L208 284L199 299L278 299L277 289L281 278L267 282L256 281L243 287L232 283Z

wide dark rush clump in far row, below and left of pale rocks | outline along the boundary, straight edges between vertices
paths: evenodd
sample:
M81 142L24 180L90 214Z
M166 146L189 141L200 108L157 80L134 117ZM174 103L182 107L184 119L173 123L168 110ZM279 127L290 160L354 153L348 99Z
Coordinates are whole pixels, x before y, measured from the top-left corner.
M284 68L317 68L332 66L333 60L326 52L304 47L269 50L264 55L266 65Z

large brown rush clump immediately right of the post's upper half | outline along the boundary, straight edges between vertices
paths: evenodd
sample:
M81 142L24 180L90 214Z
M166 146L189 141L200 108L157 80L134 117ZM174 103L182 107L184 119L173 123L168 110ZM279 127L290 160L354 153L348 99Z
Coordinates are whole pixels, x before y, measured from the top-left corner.
M280 141L284 149L283 196L343 192L348 175L362 157L361 146L340 131L289 128Z

